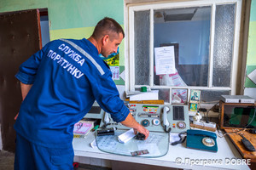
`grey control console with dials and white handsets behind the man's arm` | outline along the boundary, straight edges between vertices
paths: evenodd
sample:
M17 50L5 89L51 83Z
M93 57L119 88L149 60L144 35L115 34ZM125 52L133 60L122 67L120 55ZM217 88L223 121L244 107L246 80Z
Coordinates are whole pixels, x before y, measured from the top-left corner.
M181 133L189 129L189 111L187 105L149 105L129 104L127 106L137 122L154 132ZM113 122L105 111L100 127L129 129L121 123Z

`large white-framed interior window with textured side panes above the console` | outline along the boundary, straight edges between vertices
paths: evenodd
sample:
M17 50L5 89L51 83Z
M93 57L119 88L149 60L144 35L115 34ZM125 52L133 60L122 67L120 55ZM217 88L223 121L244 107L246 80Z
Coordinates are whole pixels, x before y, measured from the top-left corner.
M240 0L145 4L128 13L130 90L159 89L167 103L177 88L201 90L206 103L236 93ZM156 74L160 47L173 48L176 73Z

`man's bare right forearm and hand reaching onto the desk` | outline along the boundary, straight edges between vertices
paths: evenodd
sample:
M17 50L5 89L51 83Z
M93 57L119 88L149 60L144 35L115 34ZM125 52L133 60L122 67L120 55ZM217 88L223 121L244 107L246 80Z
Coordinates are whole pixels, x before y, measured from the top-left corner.
M134 129L134 133L143 133L145 135L145 139L148 138L149 131L145 127L143 127L141 124L139 124L133 116L131 116L131 113L125 118L125 121L121 122L126 127L131 127Z

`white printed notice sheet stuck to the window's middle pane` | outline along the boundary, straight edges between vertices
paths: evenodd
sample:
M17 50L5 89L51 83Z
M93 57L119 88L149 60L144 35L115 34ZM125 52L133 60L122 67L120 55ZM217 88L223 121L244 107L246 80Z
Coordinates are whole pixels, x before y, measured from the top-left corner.
M154 48L156 75L176 73L174 57L174 46Z

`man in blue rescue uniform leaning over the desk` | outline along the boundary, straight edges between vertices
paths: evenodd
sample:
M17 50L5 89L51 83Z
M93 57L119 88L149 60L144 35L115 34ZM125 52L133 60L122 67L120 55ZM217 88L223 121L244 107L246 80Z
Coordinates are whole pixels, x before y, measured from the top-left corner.
M104 18L88 39L49 42L20 65L24 99L15 122L15 169L73 169L73 125L95 99L114 121L148 138L119 99L108 65L98 56L116 53L125 33Z

